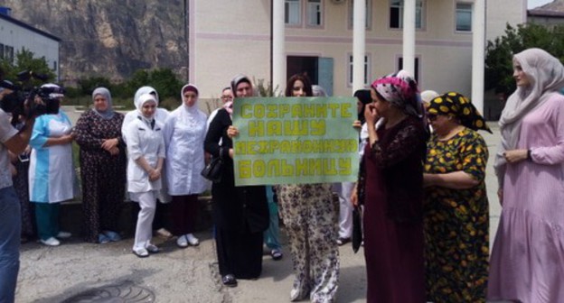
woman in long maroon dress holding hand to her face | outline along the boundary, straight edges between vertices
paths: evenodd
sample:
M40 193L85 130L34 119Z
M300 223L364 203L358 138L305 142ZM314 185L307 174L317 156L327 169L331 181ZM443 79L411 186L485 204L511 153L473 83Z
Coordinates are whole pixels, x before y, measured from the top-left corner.
M417 95L415 80L400 70L372 83L372 103L364 111L369 138L357 183L364 194L354 190L351 199L364 204L367 302L425 302L422 208L428 133Z

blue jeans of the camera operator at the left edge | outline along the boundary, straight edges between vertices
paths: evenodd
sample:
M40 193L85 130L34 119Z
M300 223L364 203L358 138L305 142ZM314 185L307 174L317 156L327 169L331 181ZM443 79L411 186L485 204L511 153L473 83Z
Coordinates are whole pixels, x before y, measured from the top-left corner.
M12 303L20 269L20 201L13 187L0 188L0 303Z

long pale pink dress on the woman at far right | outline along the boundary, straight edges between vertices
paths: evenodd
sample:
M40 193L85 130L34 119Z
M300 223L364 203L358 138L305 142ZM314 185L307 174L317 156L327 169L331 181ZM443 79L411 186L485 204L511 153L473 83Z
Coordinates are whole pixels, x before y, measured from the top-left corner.
M532 161L507 165L488 299L564 302L564 96L523 117L517 148Z

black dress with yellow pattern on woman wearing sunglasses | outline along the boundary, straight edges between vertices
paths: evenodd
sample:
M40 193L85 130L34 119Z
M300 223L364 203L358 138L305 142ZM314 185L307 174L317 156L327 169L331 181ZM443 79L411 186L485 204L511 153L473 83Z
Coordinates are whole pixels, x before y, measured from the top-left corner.
M424 204L427 300L485 302L488 276L489 212L485 191L488 150L469 129L448 141L433 134L427 173L463 170L480 183L474 188L429 187Z

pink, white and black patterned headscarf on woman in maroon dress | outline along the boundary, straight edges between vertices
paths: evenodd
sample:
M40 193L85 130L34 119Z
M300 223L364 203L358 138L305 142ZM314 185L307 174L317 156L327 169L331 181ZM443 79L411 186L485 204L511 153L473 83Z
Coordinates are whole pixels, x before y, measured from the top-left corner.
M386 101L399 107L408 115L423 117L423 106L418 96L417 82L409 72L400 70L395 74L384 76L371 85Z

